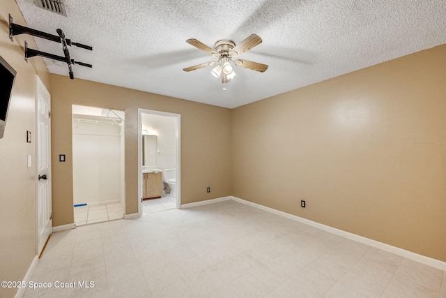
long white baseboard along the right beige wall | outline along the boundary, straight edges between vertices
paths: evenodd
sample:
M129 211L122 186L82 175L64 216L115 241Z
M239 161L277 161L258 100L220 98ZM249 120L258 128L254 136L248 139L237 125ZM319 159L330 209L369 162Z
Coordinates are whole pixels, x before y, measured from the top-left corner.
M438 268L440 270L446 270L446 262L443 262L443 261L440 261L440 260L436 260L436 259L433 259L433 258L429 258L429 257L426 257L425 255L419 255L417 253L413 253L412 251L406 251L403 248L399 248L399 247L396 247L396 246L391 246L389 244L385 244L383 242L379 242L379 241L376 241L376 240L373 240L373 239L362 237L360 235L353 234L351 232L346 232L346 231L343 231L343 230L339 230L337 228L332 228L329 225L323 225L322 223L316 223L315 221L310 221L309 219L302 218L302 217L299 217L299 216L295 216L293 214L288 214L286 212L279 211L279 210L276 210L276 209L272 209L270 207L266 207L266 206L263 206L261 204L256 204L256 203L249 202L247 200L243 200L243 199L236 198L236 197L231 197L231 198L232 198L232 200L234 200L236 202L247 204L249 206L256 207L258 209L262 209L264 211L268 211L268 212L271 212L273 214L277 214L279 216L284 216L286 218L292 219L293 221L298 221L300 223L305 223L305 225L311 225L314 228L318 228L318 229L324 230L326 232L330 232L332 234L337 234L337 235L339 235L341 237L345 237L345 238L351 239L353 241L357 241L357 242L360 242L362 244L366 244L368 246L381 249L383 251L388 251L389 253L394 253L395 255L401 255L401 257L403 257L403 258L407 258L407 259L413 260L415 262L420 262L420 263L422 263L424 265L435 267L435 268Z

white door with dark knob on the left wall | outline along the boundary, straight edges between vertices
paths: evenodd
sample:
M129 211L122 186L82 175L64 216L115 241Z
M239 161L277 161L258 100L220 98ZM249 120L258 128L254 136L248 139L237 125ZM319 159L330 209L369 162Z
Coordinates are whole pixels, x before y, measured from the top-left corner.
M36 152L36 178L37 178L37 254L40 255L43 247L52 234L51 209L51 114L49 92L37 77L37 152Z

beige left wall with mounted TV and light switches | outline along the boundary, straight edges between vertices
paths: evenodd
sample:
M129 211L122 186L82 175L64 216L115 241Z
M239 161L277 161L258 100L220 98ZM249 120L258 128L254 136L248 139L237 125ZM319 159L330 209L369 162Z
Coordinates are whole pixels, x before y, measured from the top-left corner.
M43 59L24 61L24 40L36 49L30 36L9 39L10 13L26 24L15 1L0 1L0 55L17 71L6 131L0 139L0 280L22 281L36 255L36 142L26 142L26 131L36 140L36 74L49 89ZM32 166L26 167L27 156ZM17 289L0 288L0 297L13 297Z

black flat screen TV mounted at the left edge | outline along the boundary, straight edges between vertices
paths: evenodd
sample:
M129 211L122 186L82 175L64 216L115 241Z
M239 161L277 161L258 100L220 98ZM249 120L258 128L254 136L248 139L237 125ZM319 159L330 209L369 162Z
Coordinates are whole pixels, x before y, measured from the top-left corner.
M6 117L15 80L15 70L0 56L0 139L5 133Z

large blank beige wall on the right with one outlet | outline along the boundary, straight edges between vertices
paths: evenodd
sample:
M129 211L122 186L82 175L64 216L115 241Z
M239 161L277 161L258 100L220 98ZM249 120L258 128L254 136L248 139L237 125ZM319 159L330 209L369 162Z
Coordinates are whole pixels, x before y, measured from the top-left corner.
M446 261L445 112L446 45L238 107L232 195Z

